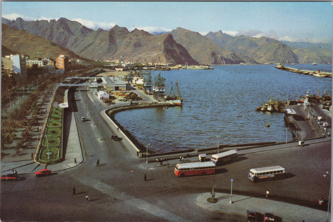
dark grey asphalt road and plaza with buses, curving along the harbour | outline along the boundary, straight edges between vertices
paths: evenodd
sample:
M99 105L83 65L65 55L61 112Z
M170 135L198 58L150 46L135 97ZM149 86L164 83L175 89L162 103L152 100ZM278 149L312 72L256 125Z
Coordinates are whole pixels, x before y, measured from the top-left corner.
M122 142L111 140L117 132L110 133L99 116L105 107L81 92L93 110L88 116L87 104L81 102L79 93L72 108L84 162L51 176L29 174L22 175L21 182L2 182L0 198L10 200L1 205L2 221L245 221L244 215L207 211L195 203L200 193L211 191L215 184L216 192L230 192L231 178L234 194L264 197L268 190L269 198L284 202L317 207L320 195L327 202L330 182L323 174L331 168L330 141L304 147L270 147L270 151L242 150L237 161L217 167L217 174L178 178L173 174L178 160L169 161L169 168L147 164ZM97 124L81 121L81 116L90 119L91 115ZM98 159L101 166L96 167ZM258 183L247 178L250 168L274 165L285 167L287 178Z

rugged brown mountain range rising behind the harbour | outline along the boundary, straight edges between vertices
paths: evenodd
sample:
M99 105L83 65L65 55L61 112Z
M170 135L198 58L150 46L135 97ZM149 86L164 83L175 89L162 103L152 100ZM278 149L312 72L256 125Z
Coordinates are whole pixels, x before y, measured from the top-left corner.
M266 37L233 37L221 31L202 36L176 28L170 33L153 35L138 29L129 32L127 28L117 25L108 31L94 31L66 18L50 22L2 18L2 29L2 49L31 57L55 58L55 55L51 55L56 54L55 50L50 47L56 47L57 51L72 51L66 52L66 55L71 54L75 58L81 56L132 62L187 62L193 65L332 62L332 46L329 47L329 44L281 42ZM23 46L23 42L26 46ZM42 48L45 50L43 56L40 55Z

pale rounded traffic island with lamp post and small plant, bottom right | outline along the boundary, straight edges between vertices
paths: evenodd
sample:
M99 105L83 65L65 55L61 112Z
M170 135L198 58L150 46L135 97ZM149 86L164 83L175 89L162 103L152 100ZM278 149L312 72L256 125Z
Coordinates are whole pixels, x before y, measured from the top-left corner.
M246 215L246 210L256 211L257 217L262 217L266 212L273 213L275 221L296 222L311 221L324 222L327 220L327 211L302 207L295 204L289 204L269 199L254 198L249 196L240 196L232 194L232 203L230 202L230 193L215 193L216 203L207 202L210 193L202 193L196 198L196 203L207 210L234 213ZM330 221L331 214L328 214ZM260 220L259 220L260 221Z

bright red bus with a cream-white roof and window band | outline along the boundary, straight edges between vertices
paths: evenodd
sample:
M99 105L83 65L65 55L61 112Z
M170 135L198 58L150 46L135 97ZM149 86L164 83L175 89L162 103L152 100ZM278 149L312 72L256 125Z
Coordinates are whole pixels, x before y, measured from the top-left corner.
M195 162L177 164L174 167L174 174L176 176L189 176L189 175L206 175L215 173L215 164L213 162Z

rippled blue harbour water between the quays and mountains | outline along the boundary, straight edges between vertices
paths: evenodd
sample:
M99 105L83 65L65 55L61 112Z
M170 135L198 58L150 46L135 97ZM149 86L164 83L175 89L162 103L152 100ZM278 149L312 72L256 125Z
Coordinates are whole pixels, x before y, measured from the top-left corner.
M156 152L216 147L217 143L242 144L285 141L283 113L255 111L269 98L286 101L332 94L332 78L291 73L275 65L223 65L210 70L161 71L178 82L182 107L134 109L117 113L115 119L143 145ZM285 65L288 66L288 65ZM304 70L332 72L331 65L293 65ZM156 76L160 71L154 71ZM266 123L270 127L265 127ZM217 138L217 136L219 136Z

